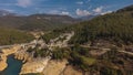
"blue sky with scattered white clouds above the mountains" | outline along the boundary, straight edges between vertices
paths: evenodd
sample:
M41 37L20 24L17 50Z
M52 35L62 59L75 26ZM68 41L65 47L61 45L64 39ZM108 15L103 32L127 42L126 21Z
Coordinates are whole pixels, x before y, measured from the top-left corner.
M18 14L62 14L85 17L105 14L126 6L133 0L0 0L0 10Z

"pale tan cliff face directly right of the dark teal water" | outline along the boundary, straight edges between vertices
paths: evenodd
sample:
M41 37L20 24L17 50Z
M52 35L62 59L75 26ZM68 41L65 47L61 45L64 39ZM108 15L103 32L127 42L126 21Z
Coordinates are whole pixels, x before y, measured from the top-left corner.
M41 73L44 67L48 65L49 57L47 58L35 58L32 61L27 62L22 65L21 74L29 74L29 73Z

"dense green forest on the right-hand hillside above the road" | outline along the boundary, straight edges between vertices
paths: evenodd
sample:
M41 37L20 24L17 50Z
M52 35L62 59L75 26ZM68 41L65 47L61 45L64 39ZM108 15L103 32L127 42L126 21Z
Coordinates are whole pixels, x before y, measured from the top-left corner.
M70 44L84 44L94 40L108 40L115 43L133 43L133 12L113 12L100 15L91 21L81 22Z

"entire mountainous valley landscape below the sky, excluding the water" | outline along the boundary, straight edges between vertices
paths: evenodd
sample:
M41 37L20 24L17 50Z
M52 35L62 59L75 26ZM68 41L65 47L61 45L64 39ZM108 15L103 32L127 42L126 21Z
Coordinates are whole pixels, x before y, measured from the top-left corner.
M0 72L10 67L12 55L21 62L16 75L133 75L132 30L133 6L85 21L57 14L3 15Z

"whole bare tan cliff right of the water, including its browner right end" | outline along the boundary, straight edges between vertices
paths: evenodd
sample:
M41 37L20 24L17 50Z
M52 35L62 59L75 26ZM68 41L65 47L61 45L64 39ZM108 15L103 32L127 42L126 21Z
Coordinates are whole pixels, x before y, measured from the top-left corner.
M42 73L43 75L83 75L81 71L66 65L68 61L34 60L27 62L21 69L21 74Z

